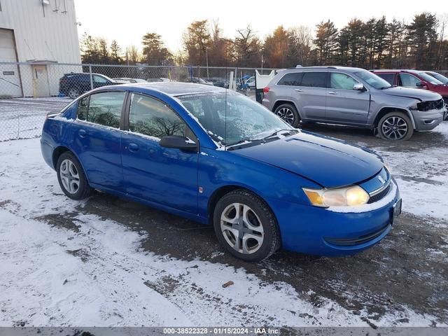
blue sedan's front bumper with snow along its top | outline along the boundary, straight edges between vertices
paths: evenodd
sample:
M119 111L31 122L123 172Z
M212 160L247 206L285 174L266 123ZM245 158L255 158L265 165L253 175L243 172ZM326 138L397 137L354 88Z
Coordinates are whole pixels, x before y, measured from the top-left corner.
M319 207L269 199L279 223L282 246L288 251L300 253L342 256L351 255L377 244L393 226L393 209L400 200L400 192L394 181L379 200L365 204L363 212L337 212Z

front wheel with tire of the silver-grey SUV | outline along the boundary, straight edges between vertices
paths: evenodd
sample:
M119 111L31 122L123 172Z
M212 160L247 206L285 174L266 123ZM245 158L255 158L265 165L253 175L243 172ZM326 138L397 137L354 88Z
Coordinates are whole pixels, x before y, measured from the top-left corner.
M406 141L414 134L414 127L406 113L393 111L379 120L378 134L382 139Z

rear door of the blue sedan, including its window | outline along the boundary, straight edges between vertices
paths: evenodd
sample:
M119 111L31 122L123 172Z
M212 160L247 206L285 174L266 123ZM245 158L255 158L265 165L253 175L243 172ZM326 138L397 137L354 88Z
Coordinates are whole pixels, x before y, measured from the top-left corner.
M73 151L90 183L123 191L120 120L125 92L90 94L78 102L77 119L71 123Z

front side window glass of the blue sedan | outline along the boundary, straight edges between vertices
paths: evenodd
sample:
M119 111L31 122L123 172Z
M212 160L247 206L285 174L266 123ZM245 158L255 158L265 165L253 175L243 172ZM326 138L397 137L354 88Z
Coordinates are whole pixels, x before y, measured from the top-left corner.
M162 139L166 135L185 137L186 124L157 99L132 94L129 128L132 132Z

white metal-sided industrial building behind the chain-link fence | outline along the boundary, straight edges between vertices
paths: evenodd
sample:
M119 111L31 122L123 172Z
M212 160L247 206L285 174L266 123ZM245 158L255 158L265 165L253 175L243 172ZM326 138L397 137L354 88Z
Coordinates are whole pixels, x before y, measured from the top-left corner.
M28 64L5 64L27 62ZM0 0L0 97L48 97L81 72L74 0Z

